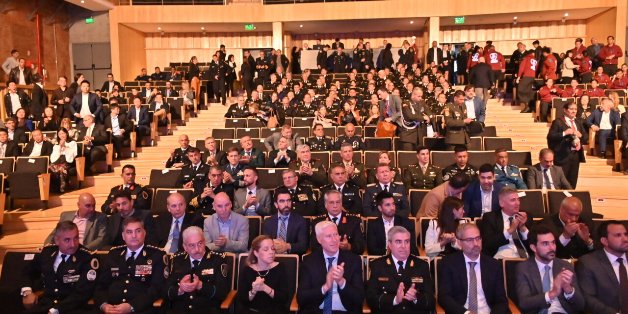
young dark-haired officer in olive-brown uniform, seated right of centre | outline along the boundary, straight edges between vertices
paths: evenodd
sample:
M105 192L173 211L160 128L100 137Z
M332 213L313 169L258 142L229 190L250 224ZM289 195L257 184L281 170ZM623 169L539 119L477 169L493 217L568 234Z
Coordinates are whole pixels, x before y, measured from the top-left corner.
M419 146L416 149L418 163L409 165L403 171L403 184L406 189L418 188L431 190L443 184L443 171L439 166L430 163L430 149Z

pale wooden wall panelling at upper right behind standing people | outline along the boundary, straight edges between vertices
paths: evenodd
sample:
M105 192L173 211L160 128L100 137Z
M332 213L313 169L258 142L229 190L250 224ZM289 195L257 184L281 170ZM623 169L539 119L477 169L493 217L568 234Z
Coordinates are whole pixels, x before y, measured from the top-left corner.
M561 21L545 21L534 23L490 24L441 26L439 41L441 43L476 42L484 46L484 42L492 40L497 51L509 55L517 49L521 41L528 48L534 40L541 41L542 46L549 46L554 51L563 52L573 48L575 38L588 37L587 21L584 19Z

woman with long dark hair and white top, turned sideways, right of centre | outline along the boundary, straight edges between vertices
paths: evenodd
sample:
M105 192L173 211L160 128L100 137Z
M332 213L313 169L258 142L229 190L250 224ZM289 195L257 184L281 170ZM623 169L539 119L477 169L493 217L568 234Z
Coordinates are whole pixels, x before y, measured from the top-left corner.
M425 254L430 257L430 261L436 256L445 256L460 249L455 232L458 225L464 222L464 205L460 198L446 197L438 219L430 221L425 234Z

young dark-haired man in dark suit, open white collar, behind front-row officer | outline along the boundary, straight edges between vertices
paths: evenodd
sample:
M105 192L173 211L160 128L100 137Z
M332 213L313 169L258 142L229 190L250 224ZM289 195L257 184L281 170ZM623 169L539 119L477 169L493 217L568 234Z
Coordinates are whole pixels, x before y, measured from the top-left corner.
M397 215L393 194L381 192L375 197L377 209L380 215L376 219L368 219L366 246L369 255L386 255L386 245L390 245L392 239L388 238L388 232L393 226L401 226L408 230L410 242L407 249L410 254L419 255L416 247L416 230L413 220Z

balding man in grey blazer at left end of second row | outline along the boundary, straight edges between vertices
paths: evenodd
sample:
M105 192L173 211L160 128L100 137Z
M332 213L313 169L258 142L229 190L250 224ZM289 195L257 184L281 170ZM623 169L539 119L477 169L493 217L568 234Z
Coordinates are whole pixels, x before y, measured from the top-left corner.
M96 200L90 193L78 196L78 210L69 210L61 213L60 222L70 220L78 227L78 242L91 251L99 249L109 241L107 237L107 215L96 211ZM50 232L44 244L54 244L57 229Z

